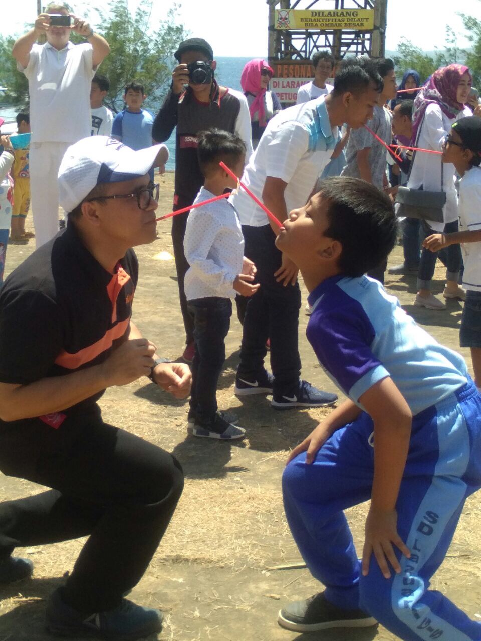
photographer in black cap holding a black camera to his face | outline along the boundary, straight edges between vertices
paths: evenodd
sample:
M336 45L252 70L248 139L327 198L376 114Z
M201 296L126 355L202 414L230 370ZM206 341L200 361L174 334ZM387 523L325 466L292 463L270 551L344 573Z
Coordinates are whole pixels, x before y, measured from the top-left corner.
M194 202L204 178L197 159L199 131L216 127L237 133L247 147L246 162L252 151L251 119L246 97L228 87L220 87L214 78L215 60L212 47L203 38L181 42L174 53L178 65L172 74L172 85L156 115L152 137L157 142L168 140L177 127L174 210ZM172 240L178 276L180 308L187 346L185 360L194 355L194 321L187 310L183 281L189 264L185 260L183 238L188 213L174 217Z

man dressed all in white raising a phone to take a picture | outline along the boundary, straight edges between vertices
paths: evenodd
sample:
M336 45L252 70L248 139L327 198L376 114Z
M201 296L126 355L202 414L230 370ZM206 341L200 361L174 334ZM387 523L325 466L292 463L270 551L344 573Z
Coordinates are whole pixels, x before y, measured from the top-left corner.
M74 45L71 31L87 42ZM37 44L46 35L47 42ZM90 135L90 83L110 51L89 22L49 3L13 45L17 69L30 92L30 189L37 249L58 231L57 174L69 145Z

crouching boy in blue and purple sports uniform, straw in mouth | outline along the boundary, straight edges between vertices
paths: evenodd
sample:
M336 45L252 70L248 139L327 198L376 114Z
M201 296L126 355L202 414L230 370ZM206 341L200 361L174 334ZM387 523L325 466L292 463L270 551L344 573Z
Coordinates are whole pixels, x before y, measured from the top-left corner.
M308 340L348 396L283 474L289 527L326 589L285 606L278 622L299 632L380 622L405 641L479 640L481 624L428 588L481 486L481 396L462 357L362 275L395 242L389 198L356 178L321 183L276 240L310 292ZM369 499L360 563L343 510Z

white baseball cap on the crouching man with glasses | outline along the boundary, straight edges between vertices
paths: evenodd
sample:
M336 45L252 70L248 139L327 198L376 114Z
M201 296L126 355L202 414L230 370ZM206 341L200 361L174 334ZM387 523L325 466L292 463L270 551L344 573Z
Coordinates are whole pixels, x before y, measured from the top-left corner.
M145 176L162 147L165 145L134 151L109 136L89 136L75 142L63 154L58 170L60 206L71 212L101 183Z

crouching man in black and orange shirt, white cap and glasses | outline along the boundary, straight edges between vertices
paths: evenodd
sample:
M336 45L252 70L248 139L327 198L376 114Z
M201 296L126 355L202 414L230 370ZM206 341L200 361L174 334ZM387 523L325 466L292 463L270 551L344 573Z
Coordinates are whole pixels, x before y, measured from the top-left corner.
M132 151L113 138L67 149L58 174L67 229L18 267L0 293L0 470L51 490L0 503L0 582L30 576L17 546L89 539L47 608L53 633L136 639L162 628L158 610L122 599L164 535L183 488L164 450L103 422L106 387L150 376L176 397L189 367L156 358L131 322L138 263L156 238L164 146ZM21 337L21 338L19 338Z

